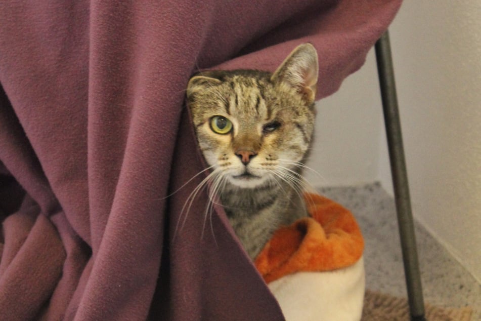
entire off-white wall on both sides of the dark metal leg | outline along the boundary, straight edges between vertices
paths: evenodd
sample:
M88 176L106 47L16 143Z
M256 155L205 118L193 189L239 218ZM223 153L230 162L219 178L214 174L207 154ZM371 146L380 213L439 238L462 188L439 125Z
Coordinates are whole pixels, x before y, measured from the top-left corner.
M481 280L481 2L405 0L389 31L414 216ZM372 52L318 105L310 180L390 189Z

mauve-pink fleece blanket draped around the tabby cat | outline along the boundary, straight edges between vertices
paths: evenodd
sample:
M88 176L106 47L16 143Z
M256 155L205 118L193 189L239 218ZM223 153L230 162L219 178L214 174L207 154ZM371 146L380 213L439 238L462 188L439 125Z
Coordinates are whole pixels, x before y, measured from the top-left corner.
M0 2L0 318L282 319L222 209L181 216L202 175L166 197L203 169L184 89L311 42L325 97L400 2Z

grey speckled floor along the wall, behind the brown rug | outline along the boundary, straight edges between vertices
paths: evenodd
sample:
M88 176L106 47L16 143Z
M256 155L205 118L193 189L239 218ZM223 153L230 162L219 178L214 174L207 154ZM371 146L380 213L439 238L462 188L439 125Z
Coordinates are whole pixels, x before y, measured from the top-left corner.
M321 194L353 212L366 243L366 287L406 297L402 254L393 198L379 183L323 187ZM481 320L481 285L419 224L415 225L424 301L474 309Z

